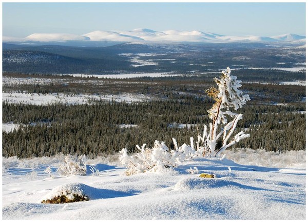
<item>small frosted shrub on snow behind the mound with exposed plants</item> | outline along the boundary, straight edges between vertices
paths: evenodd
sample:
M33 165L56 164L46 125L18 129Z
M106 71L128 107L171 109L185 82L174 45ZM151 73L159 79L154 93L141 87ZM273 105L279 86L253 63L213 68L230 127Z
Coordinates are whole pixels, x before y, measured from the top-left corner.
M86 156L71 156L66 155L64 164L60 164L57 168L60 176L80 175L85 176L87 171Z

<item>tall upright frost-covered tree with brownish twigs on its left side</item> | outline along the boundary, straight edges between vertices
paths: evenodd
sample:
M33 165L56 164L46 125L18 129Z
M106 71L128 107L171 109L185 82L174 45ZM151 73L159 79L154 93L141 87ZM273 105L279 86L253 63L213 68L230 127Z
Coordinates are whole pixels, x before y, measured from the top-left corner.
M243 114L237 114L230 110L241 108L250 98L249 95L238 89L242 86L240 84L241 80L238 80L236 76L230 73L230 68L227 67L227 70L222 72L220 79L214 79L218 88L210 87L205 90L208 96L215 100L215 103L211 109L207 110L209 118L212 119L209 129L207 130L207 127L204 126L203 136L198 136L197 150L199 152L203 150L201 151L203 156L218 156L225 149L239 142L239 140L250 136L250 134L245 134L241 131L231 138ZM219 139L222 142L217 147ZM201 141L204 147L199 147Z

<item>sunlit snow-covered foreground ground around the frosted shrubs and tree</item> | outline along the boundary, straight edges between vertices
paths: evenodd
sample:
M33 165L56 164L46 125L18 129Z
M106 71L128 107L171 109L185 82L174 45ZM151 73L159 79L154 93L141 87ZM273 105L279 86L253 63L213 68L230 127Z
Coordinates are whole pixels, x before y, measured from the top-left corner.
M3 219L305 219L304 151L239 149L226 156L132 176L123 175L125 168L114 156L98 157L87 160L98 174L88 170L86 176L70 177L55 172L63 155L3 158ZM53 179L44 172L48 166ZM198 172L189 173L194 167ZM216 178L200 178L200 173ZM54 188L72 183L81 183L90 200L41 204Z

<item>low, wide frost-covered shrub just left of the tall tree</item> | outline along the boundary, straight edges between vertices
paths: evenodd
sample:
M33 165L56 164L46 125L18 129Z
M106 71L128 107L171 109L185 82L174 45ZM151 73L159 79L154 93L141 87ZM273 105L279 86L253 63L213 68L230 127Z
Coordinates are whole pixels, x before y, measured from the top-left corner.
M174 139L174 138L173 138ZM177 167L184 160L194 157L195 150L186 144L178 147L176 140L174 139L175 149L169 149L164 142L158 140L152 148L145 148L145 144L140 148L136 146L140 152L128 155L126 149L122 149L119 159L121 164L128 169L126 175L132 175L137 173L143 173L146 171L155 171L158 168L165 167Z

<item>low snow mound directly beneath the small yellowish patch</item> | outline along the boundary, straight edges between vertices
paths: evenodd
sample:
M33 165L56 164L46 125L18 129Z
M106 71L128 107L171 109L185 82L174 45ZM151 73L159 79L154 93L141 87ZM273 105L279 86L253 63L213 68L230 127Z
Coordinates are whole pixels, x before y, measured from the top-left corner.
M242 187L242 185L220 178L185 178L175 185L174 190L219 189L221 187Z

